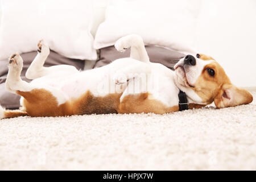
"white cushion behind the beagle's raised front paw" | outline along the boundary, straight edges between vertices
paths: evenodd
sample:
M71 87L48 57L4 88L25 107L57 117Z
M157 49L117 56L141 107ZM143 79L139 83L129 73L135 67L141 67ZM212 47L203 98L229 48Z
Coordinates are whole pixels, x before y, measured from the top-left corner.
M98 27L94 48L114 45L128 34L141 35L147 44L191 51L196 38L200 1L110 1L105 22Z

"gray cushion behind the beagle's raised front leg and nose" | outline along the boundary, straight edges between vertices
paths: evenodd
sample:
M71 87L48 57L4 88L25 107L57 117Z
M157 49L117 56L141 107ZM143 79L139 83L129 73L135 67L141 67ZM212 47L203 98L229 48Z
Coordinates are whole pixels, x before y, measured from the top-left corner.
M183 53L172 51L163 47L156 46L145 46L148 57L152 63L161 63L170 69L174 69L174 65L183 58L185 55ZM130 49L125 52L118 52L114 46L105 47L100 49L100 59L94 65L94 68L102 67L112 61L130 56Z

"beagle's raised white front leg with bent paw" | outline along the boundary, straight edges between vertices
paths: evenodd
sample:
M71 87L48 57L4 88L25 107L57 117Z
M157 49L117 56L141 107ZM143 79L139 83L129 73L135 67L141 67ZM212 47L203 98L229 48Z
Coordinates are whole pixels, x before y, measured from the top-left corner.
M150 63L147 51L144 46L143 39L139 35L127 35L117 40L115 49L123 52L125 49L131 48L130 57L144 63Z

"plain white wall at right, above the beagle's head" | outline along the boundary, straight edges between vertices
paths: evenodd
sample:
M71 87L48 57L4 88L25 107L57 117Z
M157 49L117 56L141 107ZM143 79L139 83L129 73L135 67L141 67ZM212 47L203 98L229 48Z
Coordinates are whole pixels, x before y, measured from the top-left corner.
M256 1L203 0L197 49L214 57L233 84L256 86Z

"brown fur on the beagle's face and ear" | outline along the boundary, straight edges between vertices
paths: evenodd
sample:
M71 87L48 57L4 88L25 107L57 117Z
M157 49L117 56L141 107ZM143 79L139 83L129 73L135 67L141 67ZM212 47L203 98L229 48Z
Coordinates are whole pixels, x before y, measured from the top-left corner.
M207 68L214 69L214 77L209 76ZM251 94L245 90L232 85L224 69L216 61L205 65L201 75L197 78L195 88L192 88L206 104L214 101L218 108L249 104L253 101ZM233 101L222 97L224 90L232 90Z

